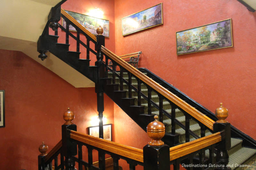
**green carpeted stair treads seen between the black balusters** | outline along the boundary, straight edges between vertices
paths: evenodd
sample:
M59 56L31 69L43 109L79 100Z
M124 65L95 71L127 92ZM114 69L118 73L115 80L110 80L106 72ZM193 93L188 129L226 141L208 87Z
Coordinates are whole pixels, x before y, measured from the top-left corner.
M145 69L139 69L139 70L145 70ZM147 74L145 72L145 74ZM109 78L112 77L112 73L109 72L108 73ZM126 79L128 81L128 74L124 73L124 79ZM132 78L132 85L137 87L138 84L136 83L137 80L136 78ZM119 84L119 79L116 78L116 89L114 89L113 93L119 93L120 92L120 84ZM108 84L106 85L106 94L111 93L109 92L108 86L114 86L113 84ZM125 91L125 96L123 96L123 98L111 98L112 100L127 100L128 99L128 85L124 85L124 91ZM148 93L148 89L146 87L146 85L141 85L141 92L143 92L145 95L147 95ZM137 106L138 105L138 97L136 96L136 92L134 90L132 90L132 99L130 102L131 103L131 107ZM117 96L117 95L116 95ZM152 97L151 99L156 102L159 105L159 97L155 92L152 92ZM141 113L141 117L143 118L144 115L148 114L148 104L147 104L147 100L142 99L141 100L141 105L144 107L143 112ZM121 105L122 106L122 105ZM170 113L171 115L171 107L168 101L164 100L163 101L163 108L164 110L166 110L168 113ZM156 109L156 107L152 107L152 114L153 115L159 115L159 111L158 109ZM185 126L185 115L183 114L182 111L180 111L179 109L175 109L175 115L176 115L176 119L181 122L184 126ZM132 117L132 116L131 116ZM141 118L141 119L142 119ZM171 120L167 117L167 116L163 116L163 123L166 127L166 133L167 134L171 134L172 131L172 124L171 124ZM199 124L194 121L193 119L190 119L189 121L190 127L189 129L191 129L196 135L200 136L201 130L200 130L200 126ZM178 139L178 144L182 144L185 143L185 130L182 129L180 126L176 125L176 133L179 134L179 139ZM210 130L206 130L205 132L205 136L211 135L212 132ZM193 136L189 136L190 137L190 141L195 140L196 138ZM164 141L164 140L163 140ZM165 143L168 141L164 141ZM248 148L248 147L243 147L242 146L243 140L239 139L239 138L231 138L231 148L228 150L228 155L229 155L229 163L228 165L231 167L231 169L239 169L238 167L235 167L235 165L243 165L244 163L248 163L248 160L251 160L253 158L256 158L256 149L252 149L252 148ZM205 157L209 158L209 152L206 151L205 153ZM233 166L234 165L234 166Z

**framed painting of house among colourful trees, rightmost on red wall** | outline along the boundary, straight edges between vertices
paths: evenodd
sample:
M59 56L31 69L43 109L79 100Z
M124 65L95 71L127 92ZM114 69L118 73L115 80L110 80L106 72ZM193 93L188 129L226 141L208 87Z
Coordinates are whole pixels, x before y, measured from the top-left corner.
M231 19L176 33L177 55L233 47Z

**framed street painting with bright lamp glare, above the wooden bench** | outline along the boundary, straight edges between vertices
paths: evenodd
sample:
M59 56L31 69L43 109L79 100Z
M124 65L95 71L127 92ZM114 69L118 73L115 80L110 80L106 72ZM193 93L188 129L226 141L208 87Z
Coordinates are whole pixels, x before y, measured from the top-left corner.
M138 32L163 24L163 4L122 18L122 35Z

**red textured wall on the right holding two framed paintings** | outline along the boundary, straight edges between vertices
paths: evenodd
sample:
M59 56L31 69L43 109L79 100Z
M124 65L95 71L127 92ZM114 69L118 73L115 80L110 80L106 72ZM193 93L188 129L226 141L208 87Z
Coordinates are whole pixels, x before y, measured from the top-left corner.
M163 25L122 36L122 18L161 2ZM228 18L232 18L234 47L176 55L176 32ZM251 130L256 129L255 20L256 12L235 0L116 0L116 54L141 50L139 67L148 68L212 112L223 102L228 121L256 139Z

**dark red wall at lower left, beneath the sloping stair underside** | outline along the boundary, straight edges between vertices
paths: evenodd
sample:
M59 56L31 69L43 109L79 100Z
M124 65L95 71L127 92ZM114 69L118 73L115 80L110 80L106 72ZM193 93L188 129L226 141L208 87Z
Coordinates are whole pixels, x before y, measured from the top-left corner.
M75 88L22 52L0 50L0 56L0 89L5 90L0 169L35 170L42 141L49 151L60 141L68 107L77 131L87 133L88 126L97 125L91 122L98 115L95 89ZM104 96L104 105L106 123L114 123L113 101Z

